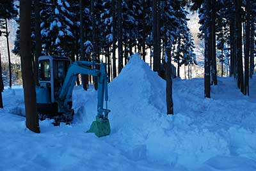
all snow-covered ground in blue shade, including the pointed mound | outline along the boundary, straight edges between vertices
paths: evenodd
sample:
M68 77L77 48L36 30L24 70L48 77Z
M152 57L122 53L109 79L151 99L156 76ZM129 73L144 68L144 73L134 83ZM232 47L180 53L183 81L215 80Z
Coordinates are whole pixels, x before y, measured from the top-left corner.
M85 133L97 92L75 87L71 125L25 126L22 89L6 89L0 110L0 170L256 170L256 77L251 96L218 77L212 99L204 79L173 80L175 115L166 115L165 82L134 56L109 84L111 135Z

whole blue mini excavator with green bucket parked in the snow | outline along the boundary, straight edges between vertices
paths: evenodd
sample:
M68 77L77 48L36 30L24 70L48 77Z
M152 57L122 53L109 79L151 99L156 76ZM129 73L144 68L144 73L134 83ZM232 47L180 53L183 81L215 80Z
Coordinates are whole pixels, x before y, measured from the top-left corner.
M99 68L95 69L95 68ZM40 56L38 59L38 80L36 87L36 105L40 119L54 119L55 124L70 123L74 116L72 91L79 74L92 75L98 80L98 105L96 121L93 121L88 133L97 137L109 135L108 120L108 74L106 63L89 61L71 62L68 57ZM104 108L104 101L106 108Z

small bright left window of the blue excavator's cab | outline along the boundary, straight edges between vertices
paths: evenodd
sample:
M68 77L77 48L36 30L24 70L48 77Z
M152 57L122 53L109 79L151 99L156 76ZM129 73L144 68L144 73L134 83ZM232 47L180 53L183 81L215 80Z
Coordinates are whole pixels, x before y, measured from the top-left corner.
M40 81L50 81L51 80L51 67L50 60L42 60L39 63L39 80Z

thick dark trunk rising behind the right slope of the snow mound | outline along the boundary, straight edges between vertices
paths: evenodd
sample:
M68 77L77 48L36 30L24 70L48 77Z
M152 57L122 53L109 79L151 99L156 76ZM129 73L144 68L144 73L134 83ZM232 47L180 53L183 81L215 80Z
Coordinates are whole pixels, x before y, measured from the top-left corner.
M153 3L153 70L159 72L160 59L159 59L159 39L157 38L157 0L152 0Z

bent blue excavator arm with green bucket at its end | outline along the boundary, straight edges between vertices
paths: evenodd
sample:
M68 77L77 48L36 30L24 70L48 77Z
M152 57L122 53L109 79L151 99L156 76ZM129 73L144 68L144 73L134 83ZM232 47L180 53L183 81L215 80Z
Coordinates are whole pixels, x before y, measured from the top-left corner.
M99 66L99 70L94 69ZM70 65L67 75L61 87L60 95L58 97L59 109L65 112L68 108L68 99L72 96L72 91L76 83L77 75L86 74L97 77L98 90L97 90L97 116L96 121L88 132L95 133L98 137L109 135L110 126L108 121L108 74L106 73L105 63L94 63L88 61L76 61ZM104 108L104 101L106 101L106 108Z

